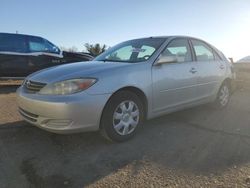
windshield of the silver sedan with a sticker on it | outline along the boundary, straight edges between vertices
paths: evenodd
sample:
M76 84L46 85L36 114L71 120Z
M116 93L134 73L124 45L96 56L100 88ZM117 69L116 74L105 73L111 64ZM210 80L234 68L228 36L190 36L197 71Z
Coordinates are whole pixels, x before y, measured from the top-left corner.
M165 40L164 38L147 38L126 41L110 48L94 60L129 63L146 61Z

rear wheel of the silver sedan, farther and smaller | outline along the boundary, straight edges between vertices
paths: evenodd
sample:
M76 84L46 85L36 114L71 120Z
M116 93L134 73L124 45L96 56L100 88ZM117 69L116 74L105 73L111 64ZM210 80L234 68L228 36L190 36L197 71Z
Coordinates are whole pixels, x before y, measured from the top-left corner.
M230 96L230 85L228 84L228 82L224 82L218 91L217 98L215 100L215 107L217 109L225 108L230 101Z

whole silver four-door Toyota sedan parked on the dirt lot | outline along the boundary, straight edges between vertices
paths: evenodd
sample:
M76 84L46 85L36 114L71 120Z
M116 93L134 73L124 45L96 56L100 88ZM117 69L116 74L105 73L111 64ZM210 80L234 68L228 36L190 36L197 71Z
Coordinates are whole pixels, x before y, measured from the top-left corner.
M48 68L17 90L19 112L54 133L96 131L125 141L143 120L214 102L227 106L232 65L212 45L184 36L120 43L93 61Z

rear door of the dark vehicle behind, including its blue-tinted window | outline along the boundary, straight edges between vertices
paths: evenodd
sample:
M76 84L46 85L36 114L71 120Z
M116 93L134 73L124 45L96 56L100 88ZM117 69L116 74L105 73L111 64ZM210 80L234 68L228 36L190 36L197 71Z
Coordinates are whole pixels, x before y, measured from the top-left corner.
M1 34L0 41L0 77L27 76L26 36Z

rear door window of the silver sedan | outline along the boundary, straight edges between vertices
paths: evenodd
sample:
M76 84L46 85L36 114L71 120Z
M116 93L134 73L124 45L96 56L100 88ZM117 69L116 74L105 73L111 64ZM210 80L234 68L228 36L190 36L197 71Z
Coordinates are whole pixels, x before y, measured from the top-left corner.
M191 40L197 61L213 61L213 50L204 42L199 40Z

